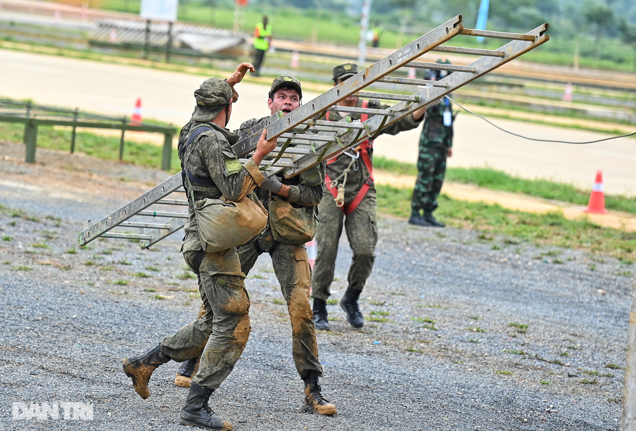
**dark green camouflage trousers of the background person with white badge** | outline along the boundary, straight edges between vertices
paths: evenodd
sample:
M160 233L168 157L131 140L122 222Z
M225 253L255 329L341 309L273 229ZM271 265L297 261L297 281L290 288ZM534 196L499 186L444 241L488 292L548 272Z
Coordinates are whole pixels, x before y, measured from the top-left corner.
M417 179L413 189L411 208L413 213L424 210L433 212L438 207L438 196L446 175L448 149L422 147L417 159Z

